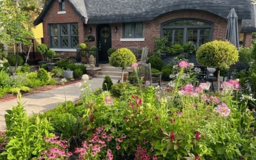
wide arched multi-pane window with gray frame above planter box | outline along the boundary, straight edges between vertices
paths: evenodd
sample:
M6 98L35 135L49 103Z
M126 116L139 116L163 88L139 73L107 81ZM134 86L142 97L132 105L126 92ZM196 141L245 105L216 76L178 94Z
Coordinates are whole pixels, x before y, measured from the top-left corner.
M212 41L212 32L213 23L201 20L176 20L161 25L161 37L167 37L169 44L204 44Z

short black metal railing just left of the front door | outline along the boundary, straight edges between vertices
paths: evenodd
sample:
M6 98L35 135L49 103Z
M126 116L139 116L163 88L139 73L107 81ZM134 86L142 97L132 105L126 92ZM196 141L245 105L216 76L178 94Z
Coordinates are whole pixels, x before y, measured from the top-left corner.
M96 50L76 50L76 62L83 64L90 64L90 55L94 56L95 67L99 67L99 49Z

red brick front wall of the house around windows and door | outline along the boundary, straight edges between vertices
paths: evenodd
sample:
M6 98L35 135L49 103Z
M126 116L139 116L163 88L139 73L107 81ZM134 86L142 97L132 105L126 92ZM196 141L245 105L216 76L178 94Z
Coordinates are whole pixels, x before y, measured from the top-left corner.
M79 30L79 44L84 43L84 39L88 36L94 36L95 41L88 42L88 47L91 48L92 46L97 46L97 26L98 25L85 25L80 17L74 12L71 6L65 1L66 6L66 14L58 14L60 11L60 4L56 0L44 18L43 29L44 29L44 43L49 46L49 24L61 24L61 23L78 23L78 30ZM119 49L119 48L126 48L129 46L134 46L138 48L148 47L151 53L153 53L155 49L155 40L154 36L160 37L161 35L161 24L171 21L171 20L178 20L178 19L201 19L207 20L214 23L214 31L212 40L216 39L225 39L226 38L226 30L228 20L212 14L210 12L201 11L201 10L179 10L179 11L172 11L168 13L164 13L149 22L143 22L143 38L145 41L143 42L121 42L120 38L123 38L123 24L109 24L112 31L112 47ZM238 21L239 26L239 34L241 31L241 24L242 21ZM92 28L92 32L89 33L89 28ZM118 28L117 33L114 32L115 27ZM249 34L247 35L249 36ZM248 45L250 44L250 39L248 40ZM68 58L69 55L76 55L75 52L56 52L61 56L64 55L65 58Z

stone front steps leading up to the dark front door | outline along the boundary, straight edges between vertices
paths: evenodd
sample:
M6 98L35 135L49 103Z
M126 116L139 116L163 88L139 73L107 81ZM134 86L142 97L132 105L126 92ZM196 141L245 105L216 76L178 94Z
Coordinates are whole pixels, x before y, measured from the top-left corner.
M120 68L112 67L109 64L99 64L99 67L101 67L101 70L94 75L96 78L105 78L106 75L110 76L111 79L120 80L122 78L122 69ZM125 71L124 75L128 77L128 72Z

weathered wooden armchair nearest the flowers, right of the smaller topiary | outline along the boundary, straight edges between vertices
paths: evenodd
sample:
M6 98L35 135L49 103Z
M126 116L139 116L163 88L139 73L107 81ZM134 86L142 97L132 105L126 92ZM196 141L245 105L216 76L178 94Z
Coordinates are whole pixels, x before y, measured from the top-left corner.
M133 68L133 74L134 74L134 83L138 83L137 82L137 77L136 77L136 72L135 69ZM145 81L149 81L150 82L150 86L152 85L152 83L156 83L158 82L159 86L161 86L161 76L162 76L162 72L160 73L151 73L151 64L150 63L145 63L143 61L139 61L138 62L138 67L137 67L137 74L139 76L139 78L141 78L142 76L144 77L143 79ZM158 75L159 77L152 77L152 75Z

